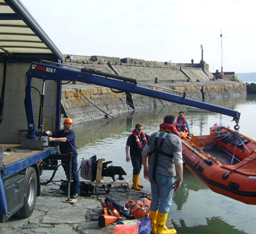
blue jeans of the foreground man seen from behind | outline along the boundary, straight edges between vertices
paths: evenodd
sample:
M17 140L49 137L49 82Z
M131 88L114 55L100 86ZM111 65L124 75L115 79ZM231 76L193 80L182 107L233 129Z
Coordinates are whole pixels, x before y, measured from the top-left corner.
M174 177L164 176L156 173L156 182L153 180L153 171L148 171L148 180L151 185L152 201L150 210L167 214L172 205Z

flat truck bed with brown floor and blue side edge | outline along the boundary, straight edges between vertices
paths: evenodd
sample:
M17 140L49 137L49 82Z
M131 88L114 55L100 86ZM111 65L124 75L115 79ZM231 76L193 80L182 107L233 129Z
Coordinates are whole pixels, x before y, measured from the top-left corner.
M20 148L20 144L0 144L0 147L12 149L11 152L4 151L4 153L9 153L9 155L4 155L3 158L3 164L6 167L4 178L47 158L49 154L55 153L54 147L45 147L44 150L24 150Z

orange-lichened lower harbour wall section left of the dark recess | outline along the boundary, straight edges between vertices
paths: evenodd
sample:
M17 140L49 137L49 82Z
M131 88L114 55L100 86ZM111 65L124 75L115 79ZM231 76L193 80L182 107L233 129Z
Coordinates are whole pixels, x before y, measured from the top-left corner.
M131 111L124 93L113 93L109 88L63 90L61 94L64 117L76 123L99 120Z

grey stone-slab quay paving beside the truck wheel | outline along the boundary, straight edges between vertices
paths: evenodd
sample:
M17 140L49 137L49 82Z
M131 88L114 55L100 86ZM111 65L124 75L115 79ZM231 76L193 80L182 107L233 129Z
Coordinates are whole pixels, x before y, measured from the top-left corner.
M108 197L122 205L131 199L138 200L142 195L132 189L125 191L120 186L111 187L108 194L100 191L89 197L80 196L77 203L70 205L63 202L67 199L67 194L60 190L60 183L54 181L42 186L41 196L36 198L36 207L31 217L11 217L0 223L0 233L110 234L113 233L114 224L105 228L100 228L98 224L99 215L104 214L100 200ZM150 198L150 194L148 196ZM170 219L167 226L173 227Z

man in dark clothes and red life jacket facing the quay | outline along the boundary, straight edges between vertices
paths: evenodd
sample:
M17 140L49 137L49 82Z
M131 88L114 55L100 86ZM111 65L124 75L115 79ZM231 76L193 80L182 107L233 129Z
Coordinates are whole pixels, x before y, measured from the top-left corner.
M139 123L135 125L135 129L132 130L132 134L128 137L127 143L125 146L126 161L130 162L129 157L129 148L130 155L132 160L132 189L140 191L143 189L143 185L139 183L140 180L140 171L142 168L142 150L147 143L148 135L142 131L142 127Z

